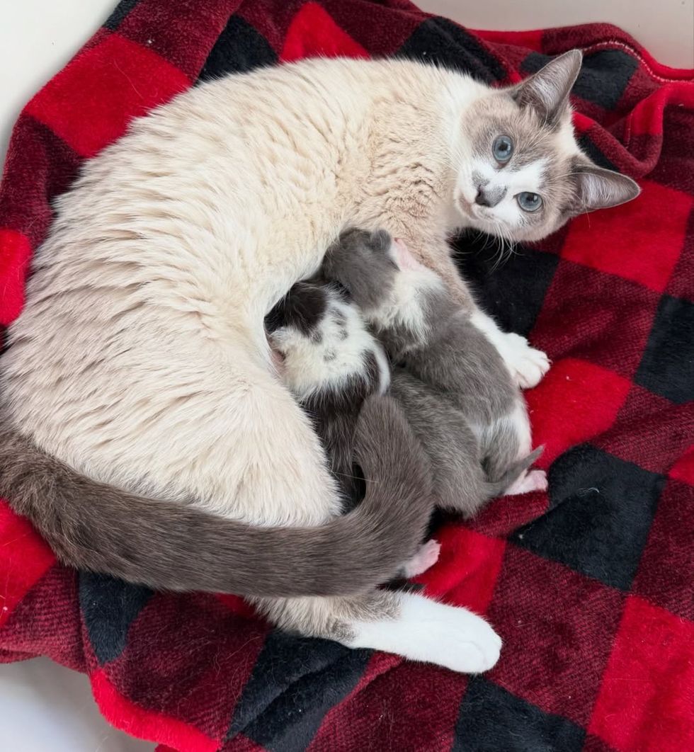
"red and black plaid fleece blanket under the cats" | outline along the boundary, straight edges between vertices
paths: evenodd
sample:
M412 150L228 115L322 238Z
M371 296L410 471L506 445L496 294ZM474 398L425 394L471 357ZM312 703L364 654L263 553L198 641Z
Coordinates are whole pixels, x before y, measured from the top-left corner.
M426 576L498 629L495 669L456 675L274 632L233 597L78 574L0 502L2 660L85 672L111 723L176 750L694 749L692 71L612 26L471 32L406 0L123 0L14 129L0 323L80 162L196 80L320 54L511 83L571 47L580 142L643 194L495 271L483 242L458 243L486 308L554 362L528 394L548 495L446 523Z

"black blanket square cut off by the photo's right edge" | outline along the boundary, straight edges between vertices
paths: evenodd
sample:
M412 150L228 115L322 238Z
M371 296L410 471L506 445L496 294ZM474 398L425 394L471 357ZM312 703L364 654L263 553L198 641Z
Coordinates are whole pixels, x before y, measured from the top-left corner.
M694 399L694 303L662 296L634 381L677 405Z

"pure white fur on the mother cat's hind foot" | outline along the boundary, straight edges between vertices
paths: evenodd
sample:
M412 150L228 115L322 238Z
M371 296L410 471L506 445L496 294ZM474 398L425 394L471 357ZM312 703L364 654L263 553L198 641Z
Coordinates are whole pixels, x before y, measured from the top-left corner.
M453 671L477 674L499 660L502 641L483 618L412 593L399 596L395 620L353 623L350 647L371 647Z

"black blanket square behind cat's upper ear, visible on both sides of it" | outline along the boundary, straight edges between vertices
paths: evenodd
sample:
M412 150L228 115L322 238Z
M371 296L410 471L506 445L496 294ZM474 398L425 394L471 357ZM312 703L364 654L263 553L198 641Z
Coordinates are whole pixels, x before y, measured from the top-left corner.
M520 69L536 73L552 58L533 52L523 60ZM638 62L622 50L600 50L583 57L580 74L571 93L605 110L614 110L629 84Z

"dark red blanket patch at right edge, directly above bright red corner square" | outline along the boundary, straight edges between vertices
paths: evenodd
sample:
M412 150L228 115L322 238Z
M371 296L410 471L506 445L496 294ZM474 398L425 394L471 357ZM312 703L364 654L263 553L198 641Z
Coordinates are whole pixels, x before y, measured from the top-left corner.
M632 593L694 621L694 488L668 481ZM694 707L692 707L694 712Z

